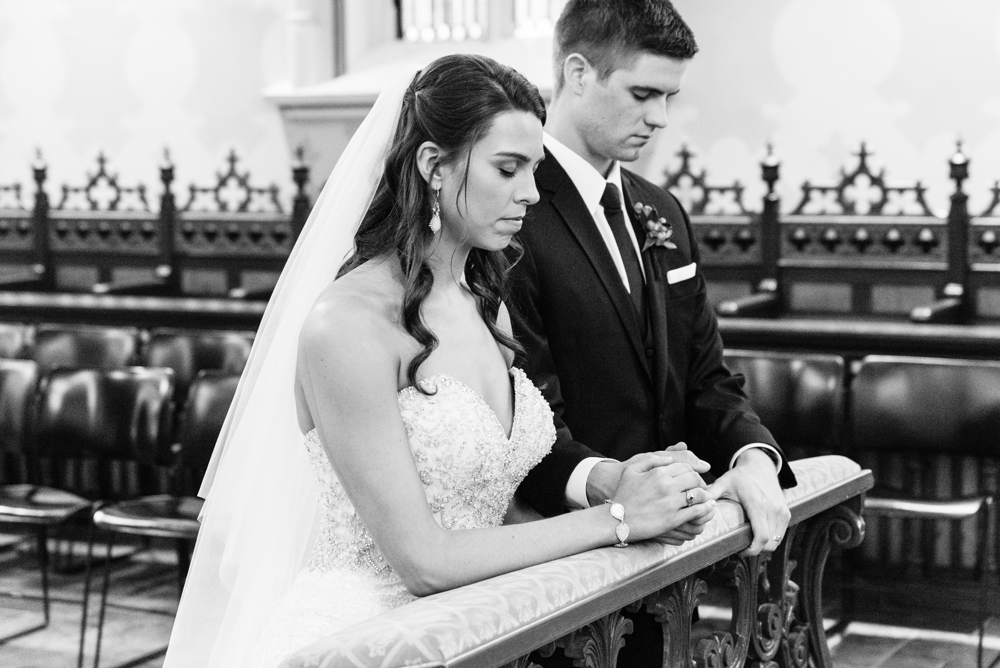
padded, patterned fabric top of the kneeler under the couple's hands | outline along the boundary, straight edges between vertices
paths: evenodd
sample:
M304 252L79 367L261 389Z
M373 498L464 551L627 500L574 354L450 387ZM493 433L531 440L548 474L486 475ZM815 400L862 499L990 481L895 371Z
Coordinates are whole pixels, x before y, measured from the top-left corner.
M789 464L798 479L796 487L785 490L793 524L872 485L871 471L862 471L846 457L828 455ZM595 606L614 601L620 608L635 600L644 578L666 586L739 552L750 540L743 509L722 500L704 532L683 545L641 541L623 549L604 547L426 596L342 629L281 665L496 665L498 651L523 654L538 646L532 639L544 642L538 629L559 637L585 623L586 615L592 618ZM723 545L728 547L721 550Z

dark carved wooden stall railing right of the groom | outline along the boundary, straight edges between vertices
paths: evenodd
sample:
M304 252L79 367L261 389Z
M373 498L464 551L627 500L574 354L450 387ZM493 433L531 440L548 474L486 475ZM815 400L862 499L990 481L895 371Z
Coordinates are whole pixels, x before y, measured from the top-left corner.
M1000 185L980 214L968 209L969 159L961 144L949 160L954 183L946 216L927 203L920 182L892 182L872 167L861 145L856 161L827 184L806 181L781 212L780 163L761 163L767 191L760 208L743 201L743 186L714 185L692 167L665 174L691 214L701 265L725 317L876 316L919 323L1000 318ZM738 345L744 345L740 341Z

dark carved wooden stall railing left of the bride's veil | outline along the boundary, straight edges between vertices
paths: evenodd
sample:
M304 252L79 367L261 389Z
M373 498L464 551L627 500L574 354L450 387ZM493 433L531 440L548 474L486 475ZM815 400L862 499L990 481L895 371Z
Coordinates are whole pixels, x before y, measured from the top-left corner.
M309 169L300 150L288 212L278 186L253 185L238 162L231 152L214 183L192 183L178 201L169 154L155 196L126 184L101 154L96 171L50 198L39 155L30 211L19 184L0 185L0 288L266 299L309 215Z

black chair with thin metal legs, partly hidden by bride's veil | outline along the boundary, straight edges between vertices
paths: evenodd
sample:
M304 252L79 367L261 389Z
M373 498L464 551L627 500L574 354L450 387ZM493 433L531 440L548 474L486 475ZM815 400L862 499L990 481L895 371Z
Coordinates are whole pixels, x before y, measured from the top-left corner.
M144 496L120 503L102 505L95 512L93 527L107 535L107 554L111 554L118 534L157 537L173 540L177 550L178 592L184 588L189 554L198 537L198 514L202 500L193 495L194 489L205 474L215 442L222 431L229 404L239 384L238 374L202 371L192 383L187 402L181 415L177 442L170 448L173 459L174 494ZM161 445L144 441L134 451L134 456L144 459L163 459ZM84 582L83 613L80 622L80 650L78 665L83 666L84 640L87 626L87 602L91 583L91 557L94 534L91 533L87 549L87 575ZM100 612L98 613L97 643L94 649L94 668L98 668L101 640L104 632L104 614L107 607L108 588L111 580L111 559L104 562L104 581L101 587ZM166 647L119 664L128 668L166 652Z

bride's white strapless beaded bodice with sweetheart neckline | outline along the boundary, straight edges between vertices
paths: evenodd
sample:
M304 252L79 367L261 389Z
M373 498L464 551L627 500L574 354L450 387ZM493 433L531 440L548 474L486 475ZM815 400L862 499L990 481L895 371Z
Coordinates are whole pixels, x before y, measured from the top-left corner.
M498 526L514 490L555 441L552 411L520 369L511 369L514 418L508 438L489 404L446 374L399 392L413 461L434 519L445 529ZM436 392L435 392L436 390ZM316 430L306 448L319 479L320 531L310 570L331 568L391 574L337 480ZM394 574L392 574L394 575Z

